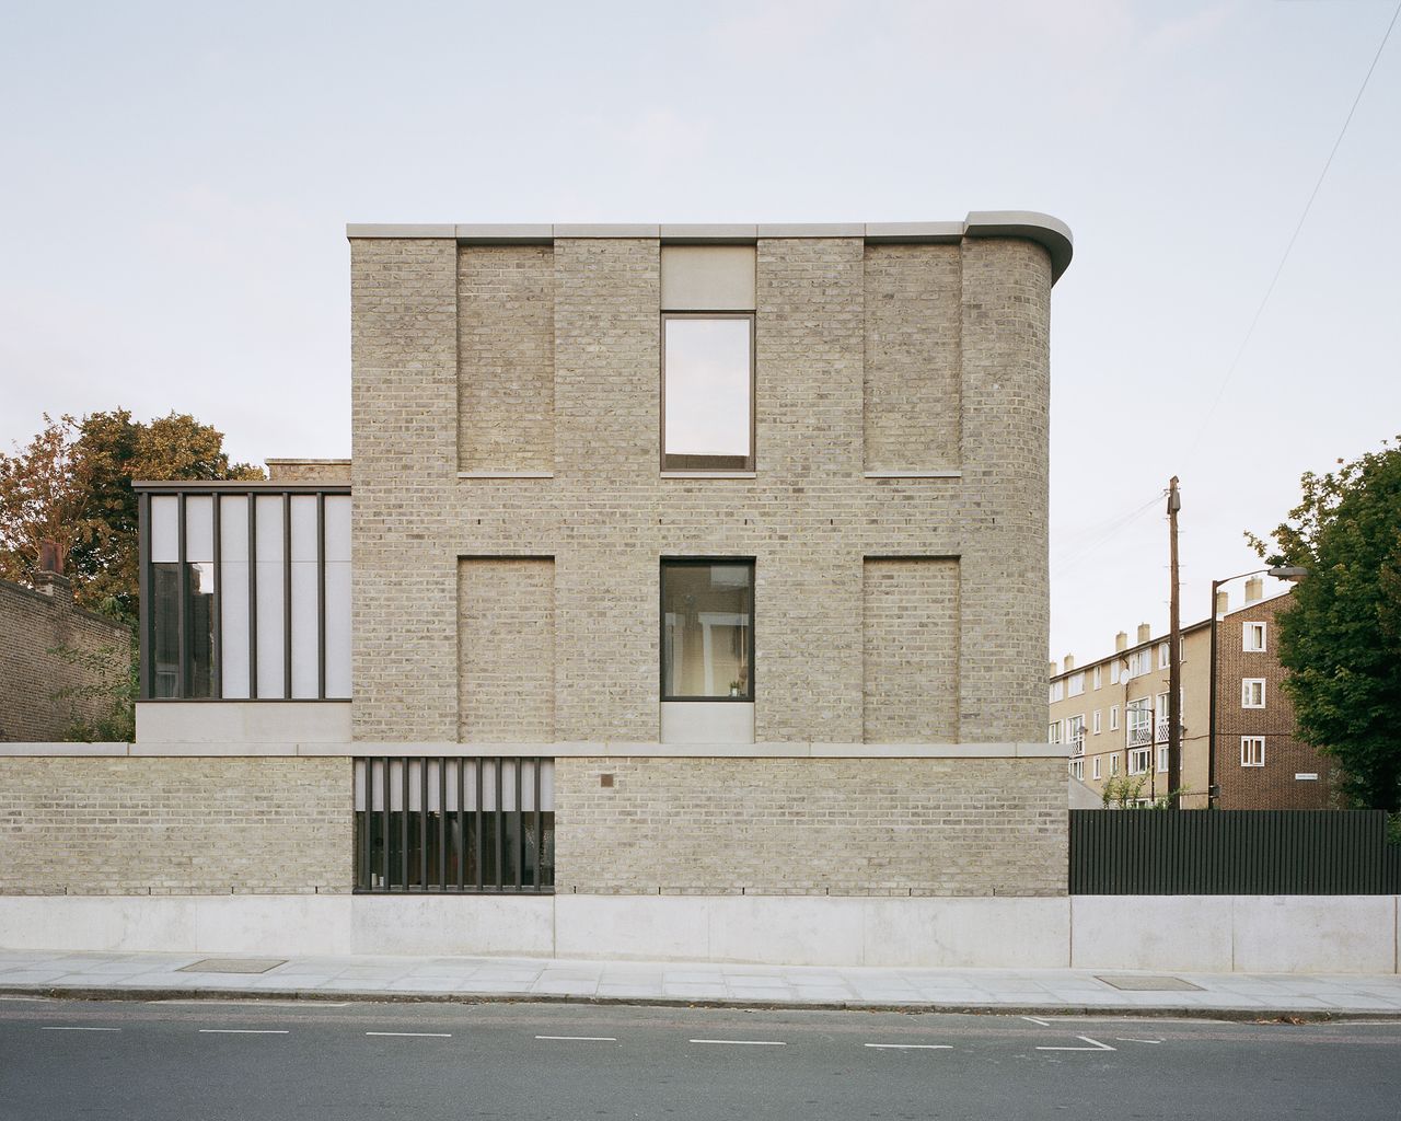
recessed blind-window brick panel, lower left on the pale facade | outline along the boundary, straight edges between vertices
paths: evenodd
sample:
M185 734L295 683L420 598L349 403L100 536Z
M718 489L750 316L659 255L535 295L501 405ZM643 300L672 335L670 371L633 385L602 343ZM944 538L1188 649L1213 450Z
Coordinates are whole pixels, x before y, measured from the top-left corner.
M462 743L555 738L555 562L468 558L458 565Z

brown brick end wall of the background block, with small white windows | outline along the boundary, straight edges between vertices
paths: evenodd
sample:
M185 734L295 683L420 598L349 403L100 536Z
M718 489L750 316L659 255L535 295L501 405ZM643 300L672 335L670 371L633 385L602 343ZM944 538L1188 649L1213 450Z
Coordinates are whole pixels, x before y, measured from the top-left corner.
M1323 810L1332 806L1334 764L1295 736L1295 706L1282 685L1278 615L1289 596L1248 604L1216 629L1216 782L1223 810ZM1247 622L1265 624L1265 649L1244 650ZM1241 708L1241 680L1264 678L1265 708ZM1241 736L1265 737L1265 765L1240 765ZM1317 780L1296 779L1297 773Z

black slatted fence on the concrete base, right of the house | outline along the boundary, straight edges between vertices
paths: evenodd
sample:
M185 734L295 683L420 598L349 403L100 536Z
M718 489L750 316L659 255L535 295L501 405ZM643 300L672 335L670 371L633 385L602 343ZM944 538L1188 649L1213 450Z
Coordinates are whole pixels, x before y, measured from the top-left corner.
M1393 895L1380 810L1070 810L1072 895Z

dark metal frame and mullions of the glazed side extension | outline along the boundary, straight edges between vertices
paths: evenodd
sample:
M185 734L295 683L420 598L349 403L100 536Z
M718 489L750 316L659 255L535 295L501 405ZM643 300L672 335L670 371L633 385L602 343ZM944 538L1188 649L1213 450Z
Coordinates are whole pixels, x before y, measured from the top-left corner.
M241 703L249 701L297 701L345 703L347 696L326 696L326 496L350 496L350 488L345 485L318 483L268 483L268 482L137 482L133 483L137 493L137 509L140 514L140 528L137 532L140 552L140 699L144 701L179 701L179 702L207 702ZM291 497L307 495L317 499L317 695L291 695ZM156 612L151 610L151 594L154 591L151 568L151 499L177 499L177 534L179 535L179 600L178 600L178 642L179 657L177 659L177 682L174 696L153 696L156 678ZM212 696L186 696L192 682L192 611L189 608L189 582L185 573L185 504L192 497L213 499L214 525L214 589L210 612L213 615L213 684ZM224 692L224 650L223 650L223 506L221 497L248 499L248 696L226 698ZM282 628L283 628L283 678L280 696L258 695L258 517L255 497L282 499Z

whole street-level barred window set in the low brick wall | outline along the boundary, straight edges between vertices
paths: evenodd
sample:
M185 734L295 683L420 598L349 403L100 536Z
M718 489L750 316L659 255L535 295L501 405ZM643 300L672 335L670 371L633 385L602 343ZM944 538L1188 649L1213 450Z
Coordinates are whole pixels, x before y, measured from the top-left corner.
M354 765L354 890L551 893L555 761L385 757Z

